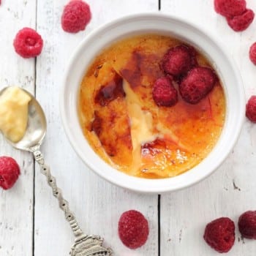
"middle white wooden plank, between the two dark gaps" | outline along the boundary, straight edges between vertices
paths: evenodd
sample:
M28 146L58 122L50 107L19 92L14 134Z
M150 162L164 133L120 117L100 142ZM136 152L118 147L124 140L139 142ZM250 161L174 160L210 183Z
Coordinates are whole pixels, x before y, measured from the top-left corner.
M103 181L78 159L69 145L59 117L59 90L70 54L89 31L121 15L158 9L157 0L88 1L93 18L86 31L67 34L61 29L61 12L67 1L38 0L37 29L45 48L37 60L37 98L48 119L48 133L42 151L86 233L105 238L116 255L158 255L157 195L138 195ZM45 178L36 172L35 250L40 255L68 255L73 242L69 225L51 195ZM150 236L146 246L131 251L117 234L118 217L135 208L149 220Z

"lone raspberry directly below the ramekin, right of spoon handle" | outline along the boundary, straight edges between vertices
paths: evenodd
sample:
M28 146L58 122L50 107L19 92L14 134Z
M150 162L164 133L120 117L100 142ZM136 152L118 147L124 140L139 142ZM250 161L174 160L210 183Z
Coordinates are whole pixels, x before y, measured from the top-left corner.
M148 238L148 221L139 211L125 211L118 222L118 234L130 249L143 246Z

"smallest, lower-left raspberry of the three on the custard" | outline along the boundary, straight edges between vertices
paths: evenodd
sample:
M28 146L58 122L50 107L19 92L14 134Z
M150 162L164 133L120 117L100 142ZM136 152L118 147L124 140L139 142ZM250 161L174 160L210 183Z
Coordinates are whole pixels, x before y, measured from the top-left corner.
M154 83L152 94L158 106L171 107L178 102L178 93L170 77L158 78Z

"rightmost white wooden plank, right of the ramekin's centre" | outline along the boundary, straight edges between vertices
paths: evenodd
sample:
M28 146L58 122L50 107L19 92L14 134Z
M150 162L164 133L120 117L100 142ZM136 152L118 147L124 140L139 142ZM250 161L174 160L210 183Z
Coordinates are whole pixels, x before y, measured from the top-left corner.
M256 10L252 1L247 5ZM214 12L213 1L162 0L162 12L186 18L216 34L238 64L246 97L256 93L255 66L248 58L249 45L256 40L253 24L236 33ZM256 243L241 239L237 227L239 215L256 208L255 132L255 125L246 121L232 154L214 175L194 187L162 195L161 255L217 255L203 241L203 232L208 222L219 217L230 217L236 223L236 242L227 255L255 255Z

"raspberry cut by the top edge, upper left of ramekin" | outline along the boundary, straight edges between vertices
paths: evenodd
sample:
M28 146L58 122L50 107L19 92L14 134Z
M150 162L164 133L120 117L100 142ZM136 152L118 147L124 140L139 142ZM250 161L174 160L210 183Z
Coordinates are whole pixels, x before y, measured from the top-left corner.
M91 10L89 4L82 0L72 0L64 7L61 16L61 26L64 31L77 33L86 29L90 20Z

